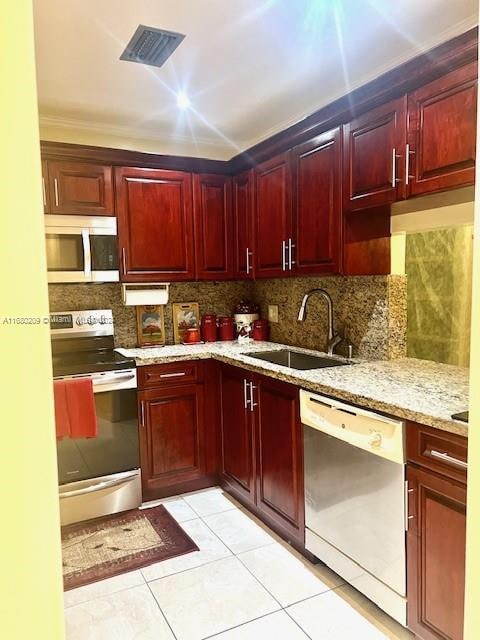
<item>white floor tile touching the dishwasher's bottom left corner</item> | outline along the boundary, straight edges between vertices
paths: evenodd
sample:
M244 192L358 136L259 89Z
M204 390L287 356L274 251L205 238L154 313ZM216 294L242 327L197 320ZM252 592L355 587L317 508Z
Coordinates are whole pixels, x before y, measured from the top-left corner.
M318 577L313 565L308 566L277 543L241 553L238 558L282 607L329 591L333 586Z

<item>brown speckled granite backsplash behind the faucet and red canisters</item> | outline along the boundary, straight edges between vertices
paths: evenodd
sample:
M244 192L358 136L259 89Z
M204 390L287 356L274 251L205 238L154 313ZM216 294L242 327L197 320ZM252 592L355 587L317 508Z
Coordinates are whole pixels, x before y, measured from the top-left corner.
M269 304L279 307L279 322L271 325L271 339L289 345L324 349L327 335L325 302L312 297L305 322L298 322L303 295L312 288L326 289L332 297L335 329L345 340L338 352L371 359L406 355L406 278L404 276L356 276L285 278L256 282L185 282L170 287L170 303L198 302L200 314L230 315L235 304L251 299L267 317ZM117 346L133 347L137 341L135 307L122 303L121 285L51 284L51 311L112 309ZM165 308L167 343L173 343L172 305Z

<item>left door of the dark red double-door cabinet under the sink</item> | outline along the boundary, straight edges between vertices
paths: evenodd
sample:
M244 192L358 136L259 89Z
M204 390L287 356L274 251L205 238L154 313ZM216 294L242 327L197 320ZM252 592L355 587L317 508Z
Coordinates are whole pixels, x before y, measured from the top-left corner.
M247 372L222 366L222 476L242 498L255 501L252 412L247 408Z

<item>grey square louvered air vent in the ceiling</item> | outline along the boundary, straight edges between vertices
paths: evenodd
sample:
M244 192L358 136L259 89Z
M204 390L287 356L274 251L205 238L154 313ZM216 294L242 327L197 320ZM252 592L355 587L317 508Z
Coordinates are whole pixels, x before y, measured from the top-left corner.
M139 24L120 60L161 67L184 38L182 33Z

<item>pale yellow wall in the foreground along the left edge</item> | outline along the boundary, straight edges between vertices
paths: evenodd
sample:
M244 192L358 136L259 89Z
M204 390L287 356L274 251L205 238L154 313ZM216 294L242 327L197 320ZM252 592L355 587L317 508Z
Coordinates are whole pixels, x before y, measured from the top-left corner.
M64 637L32 3L0 4L0 635ZM34 318L39 324L6 323Z

